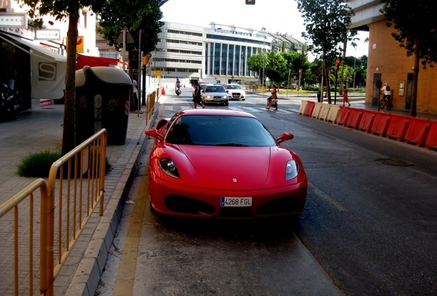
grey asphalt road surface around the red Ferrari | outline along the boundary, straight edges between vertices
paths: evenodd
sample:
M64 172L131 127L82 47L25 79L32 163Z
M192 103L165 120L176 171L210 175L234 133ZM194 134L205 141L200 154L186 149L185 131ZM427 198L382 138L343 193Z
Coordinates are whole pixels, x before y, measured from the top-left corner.
M171 96L171 97L170 97ZM160 116L188 107L189 89ZM298 153L306 210L276 221L164 219L136 178L100 295L437 295L437 152L297 114L298 99L253 112ZM388 165L381 159L393 160ZM132 291L129 293L129 291Z

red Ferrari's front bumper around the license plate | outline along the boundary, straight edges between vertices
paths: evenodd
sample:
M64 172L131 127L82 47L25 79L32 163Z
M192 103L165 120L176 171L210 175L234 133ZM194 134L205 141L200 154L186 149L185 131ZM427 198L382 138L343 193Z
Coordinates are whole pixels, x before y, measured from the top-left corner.
M253 219L298 215L306 201L306 177L297 184L259 190L216 190L157 179L149 172L150 204L159 214L190 218ZM223 207L221 197L252 197L249 207Z

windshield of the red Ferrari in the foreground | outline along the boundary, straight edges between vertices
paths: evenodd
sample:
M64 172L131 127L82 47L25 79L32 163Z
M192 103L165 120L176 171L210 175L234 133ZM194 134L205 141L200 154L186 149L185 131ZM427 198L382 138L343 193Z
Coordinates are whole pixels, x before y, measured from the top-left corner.
M168 131L166 142L225 147L276 146L275 138L258 119L225 115L181 116Z

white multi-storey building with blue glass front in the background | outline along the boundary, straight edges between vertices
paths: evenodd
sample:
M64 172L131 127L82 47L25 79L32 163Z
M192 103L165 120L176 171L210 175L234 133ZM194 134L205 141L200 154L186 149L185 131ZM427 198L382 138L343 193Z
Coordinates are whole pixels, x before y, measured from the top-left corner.
M161 78L206 79L210 82L256 82L247 59L261 51L302 51L304 43L287 34L271 34L234 25L210 23L198 27L165 23L159 33L157 50L150 58L150 74L161 71Z

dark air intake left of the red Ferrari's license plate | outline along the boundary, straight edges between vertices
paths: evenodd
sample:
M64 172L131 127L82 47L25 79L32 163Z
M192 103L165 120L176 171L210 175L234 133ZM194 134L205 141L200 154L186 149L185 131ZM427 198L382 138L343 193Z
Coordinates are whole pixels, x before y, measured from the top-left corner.
M215 212L215 208L211 204L181 195L168 195L164 204L168 210L183 214L211 215Z

